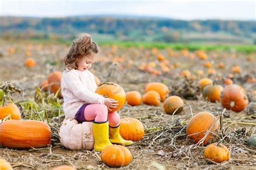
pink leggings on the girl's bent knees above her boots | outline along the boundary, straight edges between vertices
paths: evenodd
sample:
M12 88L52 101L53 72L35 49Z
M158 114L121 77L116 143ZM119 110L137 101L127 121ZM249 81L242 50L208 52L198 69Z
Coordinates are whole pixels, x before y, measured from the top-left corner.
M105 104L89 104L84 109L84 117L86 121L105 122L109 121L111 127L116 127L120 123L120 116L117 112L108 113Z

